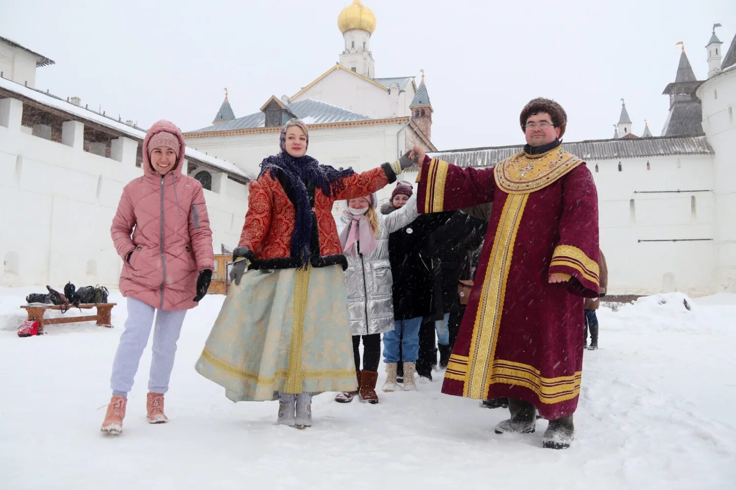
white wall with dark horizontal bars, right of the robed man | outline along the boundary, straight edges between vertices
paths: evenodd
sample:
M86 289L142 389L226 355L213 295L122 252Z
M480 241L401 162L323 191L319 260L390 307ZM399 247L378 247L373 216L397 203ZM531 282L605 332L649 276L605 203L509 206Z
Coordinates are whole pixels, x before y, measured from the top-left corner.
M712 293L712 157L595 160L588 167L598 188L609 294Z

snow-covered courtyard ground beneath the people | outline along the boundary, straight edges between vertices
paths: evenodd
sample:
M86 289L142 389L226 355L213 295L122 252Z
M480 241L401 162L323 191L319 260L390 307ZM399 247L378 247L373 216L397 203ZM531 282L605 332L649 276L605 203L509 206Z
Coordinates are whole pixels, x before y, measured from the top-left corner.
M322 394L313 427L275 425L276 402L233 404L194 372L223 300L212 295L185 320L171 422L146 423L146 349L124 433L102 436L125 299L111 295L112 330L18 338L33 291L43 288L0 288L2 489L736 488L735 295L687 298L691 310L682 294L602 308L576 440L554 451L541 447L543 420L534 434L495 435L508 412L441 394L439 372L417 392L381 392L379 405Z

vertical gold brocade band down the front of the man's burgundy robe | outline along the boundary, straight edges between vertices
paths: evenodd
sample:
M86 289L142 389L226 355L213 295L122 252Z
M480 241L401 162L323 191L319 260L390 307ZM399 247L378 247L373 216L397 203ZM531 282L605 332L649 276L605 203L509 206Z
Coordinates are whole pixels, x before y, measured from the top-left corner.
M463 396L482 399L490 386L490 366L498 340L498 327L511 269L514 243L528 194L510 194L503 205L498 228L481 288L481 301L475 314L470 341Z

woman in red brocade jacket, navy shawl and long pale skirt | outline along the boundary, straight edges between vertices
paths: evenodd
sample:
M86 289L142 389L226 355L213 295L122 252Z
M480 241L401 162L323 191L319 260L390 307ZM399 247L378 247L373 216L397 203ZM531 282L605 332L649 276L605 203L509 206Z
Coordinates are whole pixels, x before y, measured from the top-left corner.
M230 400L279 400L278 423L299 428L311 425L312 394L356 388L333 202L412 165L404 155L361 174L336 170L305 155L308 143L306 125L289 121L281 152L250 182L233 284L196 366Z

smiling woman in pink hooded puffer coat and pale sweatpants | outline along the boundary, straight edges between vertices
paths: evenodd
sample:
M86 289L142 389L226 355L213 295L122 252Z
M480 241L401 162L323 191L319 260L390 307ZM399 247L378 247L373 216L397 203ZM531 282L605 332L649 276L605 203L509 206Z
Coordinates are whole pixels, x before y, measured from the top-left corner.
M113 398L102 424L105 433L122 431L127 394L154 314L146 409L150 423L167 422L163 394L169 389L184 316L205 296L212 278L205 195L199 181L182 175L184 149L184 137L173 123L154 124L143 142L144 175L125 186L113 218L110 232L123 260L120 292L127 297L128 318L113 361Z

